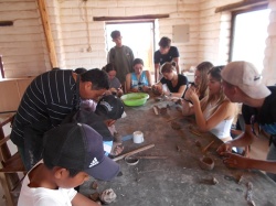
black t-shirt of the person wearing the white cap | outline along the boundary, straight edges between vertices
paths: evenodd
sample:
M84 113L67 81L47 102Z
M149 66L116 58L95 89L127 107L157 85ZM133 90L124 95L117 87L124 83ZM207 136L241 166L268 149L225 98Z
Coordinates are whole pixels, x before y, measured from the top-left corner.
M269 134L276 134L276 87L267 87L272 94L265 98L261 109L243 105L242 112L246 124L251 124L252 116L259 127Z

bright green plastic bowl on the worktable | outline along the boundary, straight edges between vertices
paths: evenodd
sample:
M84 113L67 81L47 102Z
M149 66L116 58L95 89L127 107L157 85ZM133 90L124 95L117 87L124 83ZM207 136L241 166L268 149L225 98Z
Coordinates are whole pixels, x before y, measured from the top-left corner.
M126 106L141 106L148 98L149 95L146 93L130 93L120 97Z

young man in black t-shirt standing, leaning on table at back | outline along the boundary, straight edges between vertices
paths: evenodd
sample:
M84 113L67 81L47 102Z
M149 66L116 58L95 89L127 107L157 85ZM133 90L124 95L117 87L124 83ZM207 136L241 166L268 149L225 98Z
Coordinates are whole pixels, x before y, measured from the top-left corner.
M174 62L177 74L179 74L179 52L176 46L171 46L171 40L167 36L161 37L159 50L155 52L156 82L161 79L160 66L167 62Z

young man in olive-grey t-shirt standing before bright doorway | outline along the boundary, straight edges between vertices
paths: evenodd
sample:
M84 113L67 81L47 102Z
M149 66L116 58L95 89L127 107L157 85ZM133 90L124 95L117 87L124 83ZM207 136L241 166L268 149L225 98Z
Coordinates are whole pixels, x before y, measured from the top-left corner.
M132 71L134 53L130 47L123 45L120 32L115 30L112 32L113 42L116 44L108 53L107 62L113 63L117 68L116 77L124 86L126 75Z

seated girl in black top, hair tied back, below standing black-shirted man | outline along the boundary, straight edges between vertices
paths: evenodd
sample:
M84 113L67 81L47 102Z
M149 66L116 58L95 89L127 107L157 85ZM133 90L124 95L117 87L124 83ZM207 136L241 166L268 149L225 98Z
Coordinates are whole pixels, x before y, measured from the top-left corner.
M157 90L159 94L168 97L182 98L188 85L188 79L185 76L177 73L174 62L164 63L161 66L161 73L163 77L159 83L152 86L153 91Z

